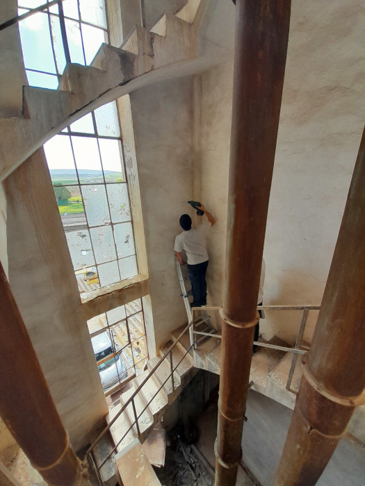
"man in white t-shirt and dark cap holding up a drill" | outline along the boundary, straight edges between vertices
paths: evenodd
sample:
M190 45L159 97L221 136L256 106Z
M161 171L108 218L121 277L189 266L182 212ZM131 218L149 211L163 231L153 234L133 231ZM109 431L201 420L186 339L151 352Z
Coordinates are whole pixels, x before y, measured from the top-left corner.
M203 205L200 210L208 218L211 226L216 220ZM182 215L179 219L181 228L184 230L175 238L174 250L180 265L188 264L189 280L193 292L192 307L201 307L206 305L206 268L208 267L209 256L206 251L206 243L202 234L201 226L191 228L191 218L189 215ZM182 252L185 251L187 262L182 258Z

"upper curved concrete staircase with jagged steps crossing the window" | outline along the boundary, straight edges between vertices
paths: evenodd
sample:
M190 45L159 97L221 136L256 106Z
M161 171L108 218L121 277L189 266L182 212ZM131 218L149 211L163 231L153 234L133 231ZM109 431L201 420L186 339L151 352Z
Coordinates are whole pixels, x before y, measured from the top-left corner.
M188 0L175 15L165 13L149 31L136 26L119 48L102 44L90 66L68 64L58 90L23 86L22 116L0 118L1 179L90 110L140 87L218 62L209 40L197 42L195 19L203 3Z

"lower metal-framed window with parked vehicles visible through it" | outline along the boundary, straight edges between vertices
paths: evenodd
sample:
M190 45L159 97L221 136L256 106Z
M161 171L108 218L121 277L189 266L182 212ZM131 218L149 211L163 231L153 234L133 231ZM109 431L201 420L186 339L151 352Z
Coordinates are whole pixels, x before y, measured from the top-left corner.
M148 358L142 299L92 317L88 329L106 394L142 373Z

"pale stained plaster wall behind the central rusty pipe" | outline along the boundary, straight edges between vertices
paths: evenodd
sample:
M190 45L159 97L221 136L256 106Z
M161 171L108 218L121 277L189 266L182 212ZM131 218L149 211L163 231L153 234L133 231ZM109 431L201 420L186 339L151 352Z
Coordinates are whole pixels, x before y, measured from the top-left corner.
M264 258L265 304L321 304L364 126L362 3L293 1ZM202 199L217 219L209 303L222 303L232 61L202 74ZM243 276L244 278L244 276ZM305 340L311 340L316 312ZM293 342L300 312L261 330Z

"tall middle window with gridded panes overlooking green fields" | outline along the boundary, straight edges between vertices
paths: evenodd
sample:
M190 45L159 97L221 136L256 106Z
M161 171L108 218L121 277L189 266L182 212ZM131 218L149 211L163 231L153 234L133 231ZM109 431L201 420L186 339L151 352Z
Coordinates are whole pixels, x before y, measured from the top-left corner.
M138 274L115 101L44 144L81 299Z

